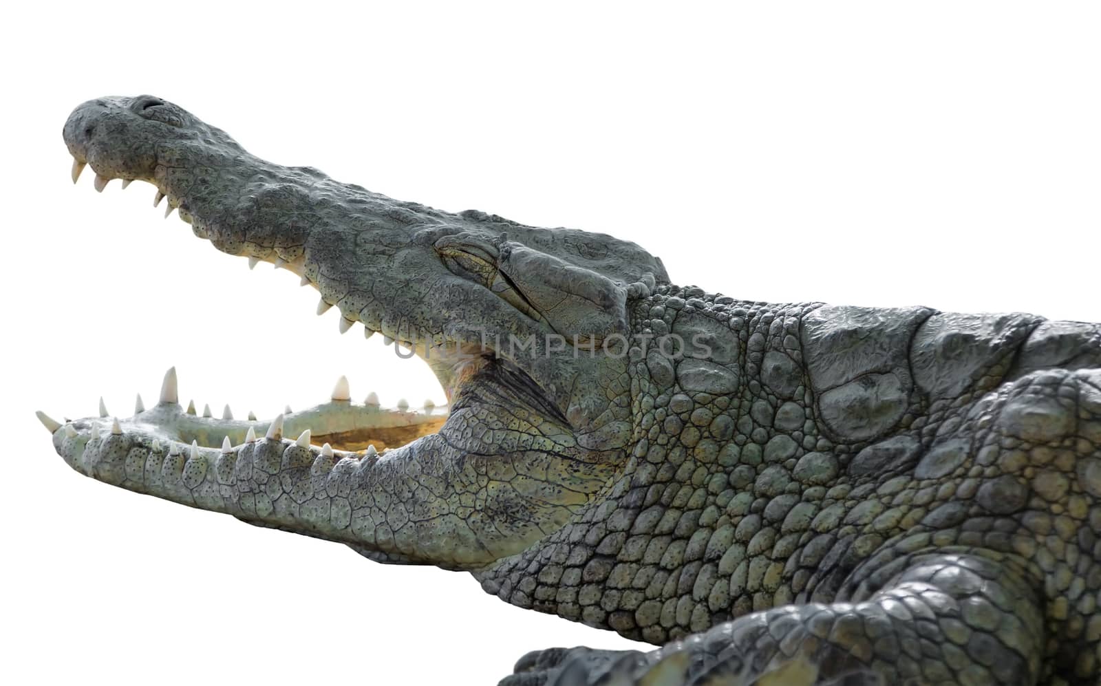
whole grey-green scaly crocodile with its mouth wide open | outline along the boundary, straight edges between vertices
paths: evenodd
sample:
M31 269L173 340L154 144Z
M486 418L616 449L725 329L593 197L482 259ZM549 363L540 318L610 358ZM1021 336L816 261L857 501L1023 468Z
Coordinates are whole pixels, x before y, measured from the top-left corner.
M448 399L341 380L242 422L184 410L170 370L131 417L39 414L75 470L656 646L537 650L506 686L1101 677L1101 326L677 286L633 242L273 164L152 96L80 105L64 140L74 182L154 185Z

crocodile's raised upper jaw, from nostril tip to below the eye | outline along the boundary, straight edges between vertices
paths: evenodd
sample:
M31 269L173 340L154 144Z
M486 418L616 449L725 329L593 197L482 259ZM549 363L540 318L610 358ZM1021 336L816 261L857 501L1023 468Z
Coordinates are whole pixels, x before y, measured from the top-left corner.
M143 117L172 115L170 108L149 96L81 105L65 126L75 171L90 164L98 190L116 177L153 183L154 204L166 199L165 216L178 209L196 236L248 258L250 268L266 261L297 274L302 285L320 292L318 314L339 311L341 333L362 323L368 337L381 333L406 344L433 368L449 398L488 355L522 370L560 414L569 414L576 379L584 375L578 370L587 363L569 346L546 350L555 331L545 322L440 262L434 243L469 230L466 214L392 200L316 170L265 162L183 110L184 126ZM473 230L495 240L480 224ZM510 231L526 240L528 232L535 238L543 230ZM544 348L535 356L513 355L512 346L500 345L532 339Z

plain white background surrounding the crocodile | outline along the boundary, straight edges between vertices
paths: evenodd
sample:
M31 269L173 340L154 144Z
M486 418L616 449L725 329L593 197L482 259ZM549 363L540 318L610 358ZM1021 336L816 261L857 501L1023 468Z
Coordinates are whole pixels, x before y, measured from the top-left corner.
M185 402L238 416L341 373L359 400L443 402L293 275L162 220L151 186L73 187L61 129L94 97L167 98L393 197L631 239L735 297L1101 320L1097 3L385 4L9 10L0 679L488 685L531 649L629 645L64 465L34 410L129 414L171 364Z

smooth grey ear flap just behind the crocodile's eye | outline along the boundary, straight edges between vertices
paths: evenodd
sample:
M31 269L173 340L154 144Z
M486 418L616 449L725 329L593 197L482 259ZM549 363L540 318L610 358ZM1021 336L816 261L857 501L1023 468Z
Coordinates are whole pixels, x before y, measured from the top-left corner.
M584 266L520 243L501 247L492 290L577 345L625 336L626 288Z

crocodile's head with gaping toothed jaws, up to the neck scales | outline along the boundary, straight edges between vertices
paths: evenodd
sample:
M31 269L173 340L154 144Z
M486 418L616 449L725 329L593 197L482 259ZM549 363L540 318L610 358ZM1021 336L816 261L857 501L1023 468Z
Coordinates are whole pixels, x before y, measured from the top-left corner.
M153 184L154 204L195 236L316 287L341 331L361 323L415 352L450 405L384 412L338 383L334 402L303 413L216 420L179 407L171 372L161 402L133 417L44 420L79 471L384 562L476 568L560 527L621 470L636 431L631 312L668 282L634 243L445 213L273 164L151 96L85 102L64 139L74 182L88 165L98 190ZM292 431L306 433L284 439Z

